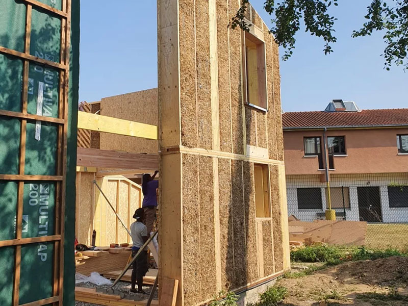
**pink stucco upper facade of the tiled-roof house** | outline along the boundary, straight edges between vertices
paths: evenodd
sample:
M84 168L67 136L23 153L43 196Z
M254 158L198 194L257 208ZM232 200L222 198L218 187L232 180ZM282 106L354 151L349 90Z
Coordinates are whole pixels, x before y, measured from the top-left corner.
M408 155L398 154L397 134L408 134L408 129L328 130L326 136L344 136L346 146L346 156L334 156L330 174L408 172ZM287 175L325 173L318 169L318 157L304 156L303 138L318 136L323 149L323 130L284 130Z

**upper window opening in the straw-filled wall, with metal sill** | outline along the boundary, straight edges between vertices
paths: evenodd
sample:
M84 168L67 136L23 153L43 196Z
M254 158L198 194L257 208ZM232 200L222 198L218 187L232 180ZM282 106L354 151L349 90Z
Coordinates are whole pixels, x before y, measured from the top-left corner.
M246 31L243 36L244 98L248 105L266 111L268 100L265 43Z

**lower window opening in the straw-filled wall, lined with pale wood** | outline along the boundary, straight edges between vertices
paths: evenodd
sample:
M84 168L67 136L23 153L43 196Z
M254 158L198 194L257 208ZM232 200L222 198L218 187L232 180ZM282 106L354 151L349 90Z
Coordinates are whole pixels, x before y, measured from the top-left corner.
M254 164L255 206L257 218L270 218L268 165Z

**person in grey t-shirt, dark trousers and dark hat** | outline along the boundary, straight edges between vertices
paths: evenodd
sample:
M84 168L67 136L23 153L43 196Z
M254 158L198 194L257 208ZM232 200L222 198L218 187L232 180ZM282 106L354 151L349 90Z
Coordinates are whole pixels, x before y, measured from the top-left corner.
M143 224L145 220L144 211L142 208L138 208L133 215L133 218L136 219L136 222L133 222L131 225L131 234L133 240L132 246L132 257L136 255L139 249L143 246L143 244L147 241L147 227ZM141 253L139 254L136 261L133 263L133 271L132 271L132 289L131 292L143 293L143 276L146 275L146 272L149 270L148 263L147 263L147 247L145 247ZM138 291L136 291L136 281Z

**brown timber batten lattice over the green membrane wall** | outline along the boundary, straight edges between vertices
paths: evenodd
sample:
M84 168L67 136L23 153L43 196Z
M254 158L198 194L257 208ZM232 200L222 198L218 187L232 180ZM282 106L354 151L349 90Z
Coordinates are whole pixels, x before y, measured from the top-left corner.
M24 52L17 52L0 46L0 53L11 55L23 61L23 88L22 88L22 111L12 112L0 110L0 115L9 118L20 119L20 151L19 151L19 174L0 174L0 180L18 181L17 211L16 211L16 239L0 241L0 247L15 246L14 259L14 283L13 283L13 306L19 305L20 262L21 246L38 242L54 242L53 260L53 294L52 297L25 303L24 306L41 306L47 304L62 305L63 303L63 271L64 271L64 221L66 200L66 176L67 176L67 137L68 137L68 94L69 94L69 53L71 33L71 0L62 0L62 10L55 9L36 0L21 0L26 5ZM41 9L46 13L58 17L61 20L60 36L60 62L52 62L30 55L31 39L31 16L32 8ZM59 103L58 117L50 118L28 114L28 79L29 64L37 63L49 66L59 71ZM25 137L27 120L52 122L58 125L57 143L57 169L56 175L25 175ZM24 182L28 181L55 181L55 233L50 236L22 238L22 209Z

